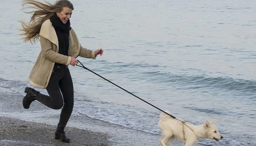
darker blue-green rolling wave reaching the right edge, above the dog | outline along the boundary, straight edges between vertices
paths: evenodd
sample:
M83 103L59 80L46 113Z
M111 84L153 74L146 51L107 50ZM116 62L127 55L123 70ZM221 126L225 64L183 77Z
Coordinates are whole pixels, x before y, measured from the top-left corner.
M143 72L142 74L147 75L148 81L155 81L161 84L165 83L167 85L181 85L182 89L212 88L222 91L234 91L236 93L256 93L256 81L254 80L231 77L209 77L208 75L177 75L159 71Z

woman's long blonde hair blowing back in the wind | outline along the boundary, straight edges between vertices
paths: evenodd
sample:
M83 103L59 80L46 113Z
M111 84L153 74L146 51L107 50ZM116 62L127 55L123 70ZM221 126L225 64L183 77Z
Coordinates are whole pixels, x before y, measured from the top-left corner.
M44 0L45 1L45 0ZM63 7L68 7L74 10L73 4L68 0L58 0L55 4L51 4L45 1L46 4L36 0L23 0L22 11L31 14L32 17L29 23L23 20L19 21L22 24L23 31L20 35L24 35L22 38L24 42L35 43L39 39L39 32L42 24L45 20L50 19L56 12L61 12ZM34 11L26 12L24 9L34 8Z

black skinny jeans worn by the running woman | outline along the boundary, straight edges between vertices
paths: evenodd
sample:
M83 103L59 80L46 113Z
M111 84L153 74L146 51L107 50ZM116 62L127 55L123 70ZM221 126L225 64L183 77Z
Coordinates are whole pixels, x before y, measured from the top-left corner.
M65 127L74 105L74 88L68 66L54 65L46 90L49 96L39 93L37 100L55 110L63 107L58 126Z

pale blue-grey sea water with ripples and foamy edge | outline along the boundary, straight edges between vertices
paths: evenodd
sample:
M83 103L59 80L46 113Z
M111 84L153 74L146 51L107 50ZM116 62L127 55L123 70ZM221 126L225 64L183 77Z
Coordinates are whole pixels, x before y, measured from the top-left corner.
M104 50L95 60L78 57L83 65L185 121L215 118L224 138L200 139L198 146L256 145L256 1L72 3L71 27L81 45ZM18 20L31 16L20 10L22 1L0 5L0 116L56 124L59 110L38 102L22 109L40 44L23 43L18 35ZM159 145L161 111L88 70L69 69L75 105L68 126L106 132L113 145Z

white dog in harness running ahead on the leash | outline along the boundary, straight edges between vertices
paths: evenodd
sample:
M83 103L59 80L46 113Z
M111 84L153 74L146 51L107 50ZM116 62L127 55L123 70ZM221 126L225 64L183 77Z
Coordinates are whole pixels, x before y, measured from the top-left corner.
M170 146L174 139L178 139L184 142L184 146L193 146L198 142L199 138L208 138L215 141L219 141L219 139L223 138L215 126L215 119L211 123L206 120L203 125L196 126L187 122L186 124L191 127L193 131L182 124L181 121L165 113L161 113L158 127L162 131L162 137L159 143L161 143L162 146Z

